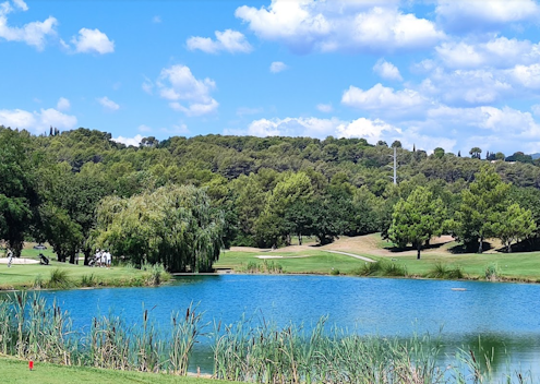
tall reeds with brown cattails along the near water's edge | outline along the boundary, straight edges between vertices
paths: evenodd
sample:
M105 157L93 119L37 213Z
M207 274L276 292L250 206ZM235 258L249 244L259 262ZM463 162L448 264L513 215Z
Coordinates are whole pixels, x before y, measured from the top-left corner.
M89 331L72 328L69 314L38 293L0 297L0 353L65 365L185 375L194 346L212 343L214 377L250 383L435 384L539 383L530 372L495 372L489 353L443 352L429 335L359 336L321 319L310 331L251 320L205 333L196 305L175 312L169 328L156 327L143 307L133 325L113 314L93 319ZM166 332L164 332L166 331ZM448 361L449 360L449 361ZM509 367L509 365L508 365Z

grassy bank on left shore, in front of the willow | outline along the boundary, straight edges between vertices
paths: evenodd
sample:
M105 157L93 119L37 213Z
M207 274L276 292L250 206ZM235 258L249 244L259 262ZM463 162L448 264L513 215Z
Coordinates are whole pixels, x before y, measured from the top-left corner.
M146 271L130 266L88 267L82 264L82 260L75 265L59 263L49 249L39 251L29 245L21 257L39 261L39 253L49 259L49 265L13 264L8 268L8 265L0 264L0 290L153 286L171 278L159 267L147 267Z

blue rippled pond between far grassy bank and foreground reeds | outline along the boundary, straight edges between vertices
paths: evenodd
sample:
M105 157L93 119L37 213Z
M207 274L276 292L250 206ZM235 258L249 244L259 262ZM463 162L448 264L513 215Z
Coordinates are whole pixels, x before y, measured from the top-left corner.
M47 291L44 296L56 298L71 313L75 328L87 328L92 316L110 310L129 323L140 323L143 304L157 324L168 324L171 312L183 312L193 302L211 323L231 324L248 316L254 322L310 328L321 316L328 316L327 324L361 335L440 335L448 351L477 346L480 340L485 350L494 348L495 368L511 364L540 373L540 285L217 275L179 277L156 288ZM208 346L200 346L193 364L212 371L208 353Z

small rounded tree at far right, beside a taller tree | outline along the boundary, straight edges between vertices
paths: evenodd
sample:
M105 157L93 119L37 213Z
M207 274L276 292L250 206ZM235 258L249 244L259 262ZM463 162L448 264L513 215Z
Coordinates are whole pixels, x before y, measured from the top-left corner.
M516 203L509 205L501 218L496 232L503 244L506 245L506 252L512 252L514 241L527 239L537 229L531 212L521 208Z

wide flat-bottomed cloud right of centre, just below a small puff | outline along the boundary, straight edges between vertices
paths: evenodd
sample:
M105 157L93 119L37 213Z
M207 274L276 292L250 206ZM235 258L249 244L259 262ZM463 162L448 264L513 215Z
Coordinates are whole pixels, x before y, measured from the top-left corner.
M381 83L368 91L350 86L344 92L341 103L349 107L364 110L385 110L403 113L410 113L424 109L431 101L416 91L405 88L394 91L385 87Z

